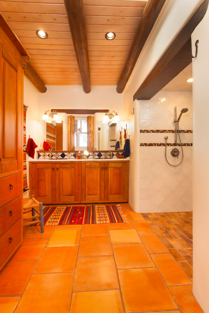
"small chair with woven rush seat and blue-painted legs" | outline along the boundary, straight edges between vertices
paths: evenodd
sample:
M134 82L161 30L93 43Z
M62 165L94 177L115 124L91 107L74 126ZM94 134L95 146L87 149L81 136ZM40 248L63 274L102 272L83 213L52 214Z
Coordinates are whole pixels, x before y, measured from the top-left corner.
M36 207L39 207L39 212ZM44 232L44 214L43 214L43 203L38 202L36 199L33 198L33 195L31 195L28 198L23 199L23 214L32 212L32 216L23 218L23 226L30 226L35 223L39 223L41 227L41 233ZM37 214L36 214L36 213ZM33 219L32 221L30 221ZM29 221L24 223L24 221Z

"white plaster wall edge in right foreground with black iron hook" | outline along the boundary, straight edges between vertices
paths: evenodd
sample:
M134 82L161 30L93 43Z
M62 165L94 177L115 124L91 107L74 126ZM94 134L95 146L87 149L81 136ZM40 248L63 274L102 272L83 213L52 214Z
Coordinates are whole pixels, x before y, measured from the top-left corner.
M193 55L199 39L193 76L193 293L205 313L209 312L209 145L208 73L209 10L192 34Z

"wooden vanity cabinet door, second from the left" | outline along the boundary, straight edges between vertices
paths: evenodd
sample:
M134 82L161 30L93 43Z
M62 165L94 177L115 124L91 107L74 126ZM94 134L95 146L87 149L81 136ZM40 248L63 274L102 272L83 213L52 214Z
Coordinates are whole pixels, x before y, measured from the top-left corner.
M56 201L79 201L79 164L56 163Z

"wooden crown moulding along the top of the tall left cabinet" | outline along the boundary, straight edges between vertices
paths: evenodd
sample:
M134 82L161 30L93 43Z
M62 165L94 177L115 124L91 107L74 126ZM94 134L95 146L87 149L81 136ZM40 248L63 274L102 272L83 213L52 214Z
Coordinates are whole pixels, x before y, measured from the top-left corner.
M19 41L19 38L15 35L12 28L9 26L9 24L4 19L3 15L1 13L0 13L0 27L7 34L7 36L12 41L14 46L18 49L19 53L21 55L26 55L28 57L28 59L30 59L28 52L25 50L24 46Z

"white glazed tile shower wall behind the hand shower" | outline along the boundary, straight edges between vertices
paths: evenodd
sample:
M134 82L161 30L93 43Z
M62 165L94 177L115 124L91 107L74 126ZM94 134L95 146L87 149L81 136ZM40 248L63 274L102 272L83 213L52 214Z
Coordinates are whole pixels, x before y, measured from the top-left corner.
M140 130L174 130L174 108L177 118L182 108L180 130L192 130L192 92L160 91L151 100L140 100ZM140 133L142 143L174 143L174 133ZM192 144L192 133L180 134L182 143ZM179 143L179 138L177 138ZM167 147L171 164L181 160L171 156L173 146ZM140 212L192 211L192 146L183 146L184 159L177 166L165 160L165 146L140 146Z

